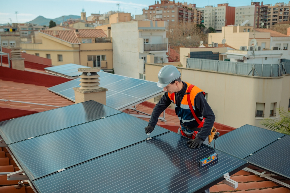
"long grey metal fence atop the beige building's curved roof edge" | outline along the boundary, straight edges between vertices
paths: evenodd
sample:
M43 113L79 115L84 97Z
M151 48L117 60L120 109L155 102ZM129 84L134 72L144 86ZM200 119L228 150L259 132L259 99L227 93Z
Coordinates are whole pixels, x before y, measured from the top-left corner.
M280 64L249 64L222 60L187 58L186 68L260 77L277 77L283 74L290 74L290 62L282 62Z

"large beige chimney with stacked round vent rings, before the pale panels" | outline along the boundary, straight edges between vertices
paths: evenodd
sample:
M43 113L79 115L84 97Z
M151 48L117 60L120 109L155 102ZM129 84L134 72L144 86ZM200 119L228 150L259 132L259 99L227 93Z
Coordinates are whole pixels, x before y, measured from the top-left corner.
M73 88L75 90L75 103L85 102L88 100L94 100L102 104L106 104L106 91L108 89L100 87L100 79L97 72L100 71L100 68L79 68L79 72L82 72L81 87Z

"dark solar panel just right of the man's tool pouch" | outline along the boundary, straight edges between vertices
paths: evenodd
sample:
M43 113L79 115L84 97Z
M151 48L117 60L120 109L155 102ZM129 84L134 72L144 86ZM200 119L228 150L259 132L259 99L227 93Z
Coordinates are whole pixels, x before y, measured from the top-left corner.
M282 136L284 136L282 133L244 125L220 136L215 142L215 147L230 155L244 159Z

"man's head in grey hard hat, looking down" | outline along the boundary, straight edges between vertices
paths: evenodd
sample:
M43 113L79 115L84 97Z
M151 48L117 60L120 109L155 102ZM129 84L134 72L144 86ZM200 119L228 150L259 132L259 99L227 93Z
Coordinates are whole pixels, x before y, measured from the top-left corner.
M180 84L182 85L180 76L181 73L175 66L166 65L158 73L157 86L168 93L177 92L180 90Z

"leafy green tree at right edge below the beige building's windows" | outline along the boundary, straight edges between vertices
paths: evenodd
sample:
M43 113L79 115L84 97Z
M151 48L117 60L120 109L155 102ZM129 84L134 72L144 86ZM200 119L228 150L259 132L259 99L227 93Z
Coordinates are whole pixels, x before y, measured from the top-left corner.
M264 119L260 123L271 130L290 135L290 111L284 108L277 109L281 120Z

